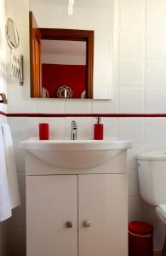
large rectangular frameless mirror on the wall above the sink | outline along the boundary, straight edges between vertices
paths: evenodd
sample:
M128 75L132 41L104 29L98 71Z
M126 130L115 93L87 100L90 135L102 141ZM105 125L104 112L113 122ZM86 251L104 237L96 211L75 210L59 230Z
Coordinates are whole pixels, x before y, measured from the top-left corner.
M38 78L31 78L35 84L42 83L42 90L38 85L36 89L31 86L31 96L111 99L113 0L103 0L102 2L100 0L77 0L72 4L72 7L69 6L68 0L29 0L29 3L30 10L36 20L36 39L39 40L42 37L40 47L37 48L36 45L35 50L35 54L38 55L38 59L41 61L41 67L38 68L41 68L42 72ZM37 28L40 29L37 31ZM94 43L89 48L84 46L85 60L83 62L83 45L81 46L82 49L78 49L78 45L75 44L81 43L81 40L75 42L71 38L65 40L64 38L58 40L56 38L56 42L53 43L52 38L44 38L41 35L41 28L42 31L48 30L49 35L53 30L93 32ZM86 40L83 40L83 42L86 43ZM48 52L46 52L46 49ZM92 51L93 60L91 60L91 57L88 60L88 51L90 53ZM78 56L79 61L73 62L73 59L78 60ZM33 55L31 60L32 58ZM69 62L66 62L66 60ZM37 59L32 60L32 65L35 61L38 65ZM63 66L61 71L58 69L60 66ZM53 67L56 67L56 71L54 69L54 72L51 73ZM67 67L70 67L69 71L67 71ZM79 74L81 71L78 72L78 69L82 69L83 79L81 79L82 75ZM46 73L43 70L46 70ZM33 72L37 73L37 67L36 69L33 68ZM60 73L63 78L61 80ZM72 80L75 80L74 85L73 81L69 81L68 78L64 79L67 73L71 75ZM84 85L83 80L85 81ZM59 89L61 94L58 93Z

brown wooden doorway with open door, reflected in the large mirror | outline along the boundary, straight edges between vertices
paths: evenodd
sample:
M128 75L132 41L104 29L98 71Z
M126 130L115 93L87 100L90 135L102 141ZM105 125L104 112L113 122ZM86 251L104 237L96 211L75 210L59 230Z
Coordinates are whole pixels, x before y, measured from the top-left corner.
M93 98L94 31L39 28L30 12L31 97Z

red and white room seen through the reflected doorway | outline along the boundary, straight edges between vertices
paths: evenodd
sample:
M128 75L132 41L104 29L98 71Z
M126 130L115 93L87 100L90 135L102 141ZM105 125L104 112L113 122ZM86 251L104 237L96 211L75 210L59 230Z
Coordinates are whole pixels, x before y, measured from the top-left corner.
M41 40L41 56L43 97L85 96L86 42Z

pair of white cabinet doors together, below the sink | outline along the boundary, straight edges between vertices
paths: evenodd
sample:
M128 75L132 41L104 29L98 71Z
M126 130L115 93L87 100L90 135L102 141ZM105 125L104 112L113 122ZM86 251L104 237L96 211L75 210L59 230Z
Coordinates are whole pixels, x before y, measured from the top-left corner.
M123 174L26 176L27 256L127 255Z

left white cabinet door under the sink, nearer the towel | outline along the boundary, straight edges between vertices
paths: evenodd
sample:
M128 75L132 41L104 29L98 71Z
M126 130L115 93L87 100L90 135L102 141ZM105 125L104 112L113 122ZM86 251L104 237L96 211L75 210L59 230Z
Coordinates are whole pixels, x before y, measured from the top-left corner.
M77 256L77 176L26 177L26 235L27 256Z

